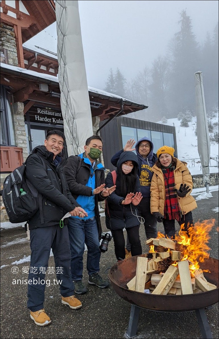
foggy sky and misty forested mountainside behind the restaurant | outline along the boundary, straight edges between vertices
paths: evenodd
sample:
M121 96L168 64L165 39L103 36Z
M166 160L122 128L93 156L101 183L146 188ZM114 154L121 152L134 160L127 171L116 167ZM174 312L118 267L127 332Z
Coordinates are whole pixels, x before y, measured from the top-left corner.
M133 117L194 115L197 71L206 110L218 106L217 0L79 0L79 13L88 85L149 106Z

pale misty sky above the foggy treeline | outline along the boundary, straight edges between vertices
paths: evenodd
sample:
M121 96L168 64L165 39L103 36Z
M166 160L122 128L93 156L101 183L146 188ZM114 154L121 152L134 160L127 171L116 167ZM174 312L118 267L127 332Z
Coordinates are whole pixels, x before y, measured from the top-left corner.
M127 81L158 55L164 56L180 30L186 9L200 44L218 22L218 1L101 1L79 0L88 85L103 89L109 69L118 67ZM51 28L56 30L56 25ZM47 28L48 30L48 28Z

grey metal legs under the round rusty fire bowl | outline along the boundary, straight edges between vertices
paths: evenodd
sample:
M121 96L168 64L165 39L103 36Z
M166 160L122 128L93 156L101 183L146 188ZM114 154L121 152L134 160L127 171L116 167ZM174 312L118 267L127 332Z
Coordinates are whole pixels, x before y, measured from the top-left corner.
M212 306L209 306L207 308L212 308ZM137 334L137 326L138 326L140 309L141 307L138 307L135 305L132 305L131 307L129 325L128 325L128 330L127 330L127 335L129 338L132 338L136 336ZM152 311L152 310L149 310L149 311ZM156 312L160 312L160 311L156 311ZM202 338L213 339L205 309L199 308L198 310L195 310L195 314L198 320L198 326L200 328Z

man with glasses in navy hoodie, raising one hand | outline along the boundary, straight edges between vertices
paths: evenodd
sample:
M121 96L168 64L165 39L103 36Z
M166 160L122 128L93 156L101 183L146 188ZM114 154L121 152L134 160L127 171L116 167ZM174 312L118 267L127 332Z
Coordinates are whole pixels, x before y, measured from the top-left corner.
M141 199L141 202L138 205L138 214L145 220L144 226L147 239L156 238L157 220L154 215L151 214L150 210L150 186L153 176L151 168L157 161L157 156L153 153L153 143L147 137L138 140L135 148L132 148L134 144L134 139L128 140L125 147L112 157L111 163L116 167L121 153L125 151L136 151L138 158L138 175L141 184L141 194L143 195L143 199ZM127 247L127 250L129 250L129 244L127 244Z

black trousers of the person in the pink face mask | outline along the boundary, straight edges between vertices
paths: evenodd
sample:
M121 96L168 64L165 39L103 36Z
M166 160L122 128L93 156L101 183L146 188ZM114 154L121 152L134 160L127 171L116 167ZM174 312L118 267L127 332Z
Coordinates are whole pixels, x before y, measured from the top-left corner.
M139 238L139 226L126 228L127 236L131 246L132 256L142 254L141 242ZM125 259L125 238L123 229L111 231L115 246L115 255L117 260Z

